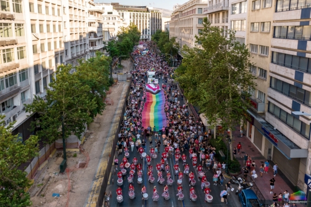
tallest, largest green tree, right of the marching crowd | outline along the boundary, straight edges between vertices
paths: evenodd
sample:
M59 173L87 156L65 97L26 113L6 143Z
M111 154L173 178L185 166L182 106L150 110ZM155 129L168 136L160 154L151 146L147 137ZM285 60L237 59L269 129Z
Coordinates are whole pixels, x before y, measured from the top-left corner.
M251 55L244 44L235 41L233 31L225 37L224 31L210 26L207 18L203 22L204 29L196 36L197 47L183 48L183 66L176 71L177 80L189 102L200 107L210 125L220 121L232 132L251 107L249 88L256 86L249 72Z

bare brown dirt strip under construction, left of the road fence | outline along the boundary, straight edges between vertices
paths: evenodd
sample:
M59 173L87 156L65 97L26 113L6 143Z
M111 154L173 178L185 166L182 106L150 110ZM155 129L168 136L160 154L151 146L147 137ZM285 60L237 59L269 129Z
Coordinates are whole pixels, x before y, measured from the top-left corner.
M123 72L131 69L129 60L122 61ZM110 87L111 105L106 105L102 115L98 115L94 122L88 126L86 141L81 146L83 153L67 153L68 172L59 174L59 165L62 162L62 149L58 150L48 160L48 165L35 176L35 183L29 190L31 193L32 207L83 207L88 190L96 173L105 138L110 129L116 106L121 98L124 83ZM59 197L52 197L58 193Z

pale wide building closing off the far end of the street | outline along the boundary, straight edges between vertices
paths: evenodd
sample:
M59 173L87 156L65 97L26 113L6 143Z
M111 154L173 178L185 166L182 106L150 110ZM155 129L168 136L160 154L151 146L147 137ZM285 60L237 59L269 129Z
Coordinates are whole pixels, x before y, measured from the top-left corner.
M151 40L151 35L156 30L164 29L162 28L162 13L152 7L121 5L119 3L111 3L111 5L118 11L123 21L127 22L128 25L133 23L138 27L142 40Z

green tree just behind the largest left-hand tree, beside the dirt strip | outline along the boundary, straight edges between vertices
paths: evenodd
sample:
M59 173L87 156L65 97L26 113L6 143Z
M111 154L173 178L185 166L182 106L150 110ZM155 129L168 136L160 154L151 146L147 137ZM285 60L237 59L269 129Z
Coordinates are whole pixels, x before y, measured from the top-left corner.
M101 52L96 52L93 60L79 60L79 65L76 66L77 77L82 85L87 85L90 88L90 93L87 93L89 100L96 100L96 108L90 110L90 116L95 117L97 114L102 114L105 104L103 102L106 97L105 91L109 89L109 63L111 57L104 56Z

